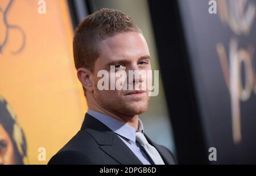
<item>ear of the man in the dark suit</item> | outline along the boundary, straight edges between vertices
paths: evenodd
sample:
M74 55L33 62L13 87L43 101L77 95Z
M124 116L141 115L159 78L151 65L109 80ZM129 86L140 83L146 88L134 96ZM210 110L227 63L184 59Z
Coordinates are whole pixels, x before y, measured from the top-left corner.
M90 72L86 68L77 69L77 78L80 80L82 86L86 89L86 91L93 92L92 76L92 72Z

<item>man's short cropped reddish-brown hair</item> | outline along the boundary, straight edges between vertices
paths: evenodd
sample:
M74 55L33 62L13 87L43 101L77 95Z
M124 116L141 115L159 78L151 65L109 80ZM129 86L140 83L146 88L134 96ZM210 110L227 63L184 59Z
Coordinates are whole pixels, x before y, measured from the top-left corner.
M76 28L73 39L73 57L76 69L94 71L94 63L100 56L100 42L122 32L139 32L130 16L119 10L102 8L85 18Z

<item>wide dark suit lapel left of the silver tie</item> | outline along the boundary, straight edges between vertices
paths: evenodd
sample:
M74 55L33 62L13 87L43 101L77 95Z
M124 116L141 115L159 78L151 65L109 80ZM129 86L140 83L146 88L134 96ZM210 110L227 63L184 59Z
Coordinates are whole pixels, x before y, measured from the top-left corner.
M142 165L142 162L110 128L89 114L85 114L81 130L89 132L99 147L119 164Z

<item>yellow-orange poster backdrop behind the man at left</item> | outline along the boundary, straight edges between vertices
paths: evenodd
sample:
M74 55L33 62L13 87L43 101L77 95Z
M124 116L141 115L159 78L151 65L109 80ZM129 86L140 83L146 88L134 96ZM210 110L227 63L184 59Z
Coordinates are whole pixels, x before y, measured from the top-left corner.
M0 1L0 164L47 164L87 107L67 1L38 2Z

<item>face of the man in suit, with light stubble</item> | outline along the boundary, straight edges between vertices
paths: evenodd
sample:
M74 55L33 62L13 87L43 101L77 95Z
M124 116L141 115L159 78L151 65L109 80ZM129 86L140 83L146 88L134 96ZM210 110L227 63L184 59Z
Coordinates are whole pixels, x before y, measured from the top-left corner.
M115 66L115 72L124 70L127 74L127 90L110 90L110 76L109 76L109 90L100 91L97 88L98 80L97 73L100 70L108 71L110 75L110 66ZM146 85L146 81L152 81L151 75L135 76L129 78L129 70L132 71L151 71L150 53L147 42L138 32L119 33L114 37L106 38L101 42L101 54L97 58L94 65L93 72L93 89L94 97L102 108L107 109L115 114L123 115L137 115L141 114L147 109L148 101L150 100L150 90L148 87L141 92L134 92L135 90L142 90L142 84ZM147 76L148 75L148 76ZM137 77L138 78L138 77ZM114 82L120 77L115 76ZM133 84L133 90L128 88L129 84ZM135 86L137 84L137 86ZM135 87L137 87L135 89Z

